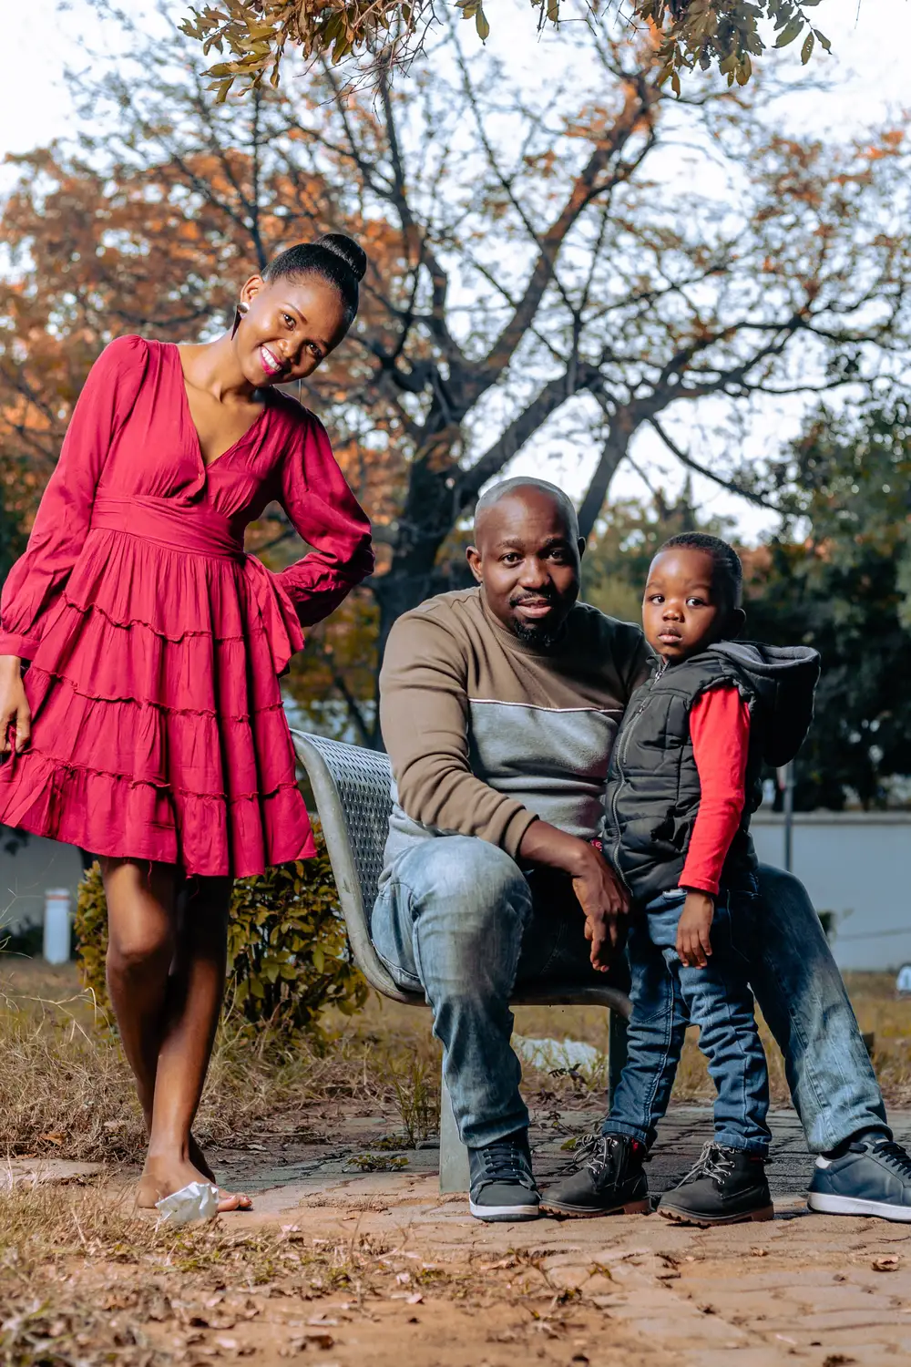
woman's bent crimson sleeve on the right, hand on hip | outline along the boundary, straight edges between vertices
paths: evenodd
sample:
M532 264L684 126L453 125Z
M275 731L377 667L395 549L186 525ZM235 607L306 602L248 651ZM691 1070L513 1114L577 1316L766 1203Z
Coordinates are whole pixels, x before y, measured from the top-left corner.
M281 466L279 499L313 550L276 576L302 626L321 622L373 570L370 521L348 488L322 424L305 413L302 443Z

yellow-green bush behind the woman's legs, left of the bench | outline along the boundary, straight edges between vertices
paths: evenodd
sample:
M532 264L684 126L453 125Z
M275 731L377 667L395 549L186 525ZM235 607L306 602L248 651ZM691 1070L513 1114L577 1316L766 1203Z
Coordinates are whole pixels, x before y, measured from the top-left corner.
M283 864L260 878L238 879L228 923L227 1006L253 1031L320 1035L320 1013L346 1014L366 999L367 986L351 961L322 831L317 857ZM79 972L111 1016L104 976L108 908L97 864L79 884L75 915Z

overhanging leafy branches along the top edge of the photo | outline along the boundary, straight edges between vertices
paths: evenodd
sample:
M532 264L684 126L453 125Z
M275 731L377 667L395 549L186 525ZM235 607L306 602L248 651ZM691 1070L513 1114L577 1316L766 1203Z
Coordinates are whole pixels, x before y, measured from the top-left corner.
M646 27L656 38L661 59L661 81L680 94L680 74L713 64L728 85L746 85L753 75L753 57L766 49L761 22L774 33L776 48L802 38L800 60L806 66L818 46L830 44L807 10L821 0L619 0L616 8L632 23ZM589 0L575 8L561 0L531 0L538 29L561 19L590 18L597 23L605 5ZM608 3L606 8L615 5ZM483 42L490 23L483 0L456 0L463 19L474 19ZM570 11L567 14L567 11ZM440 18L433 0L225 0L219 5L193 8L183 31L202 44L208 55L224 56L208 71L212 89L225 100L235 82L257 87L268 77L279 83L288 48L296 48L306 62L329 60L351 82L373 83L396 67L408 67L425 52L428 37ZM448 15L447 15L448 18Z

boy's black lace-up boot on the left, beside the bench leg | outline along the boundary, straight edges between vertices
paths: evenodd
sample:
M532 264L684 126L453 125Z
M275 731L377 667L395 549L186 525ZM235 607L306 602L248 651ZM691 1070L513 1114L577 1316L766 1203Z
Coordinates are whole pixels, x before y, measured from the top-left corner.
M647 1214L646 1147L627 1135L594 1135L580 1150L587 1161L572 1177L549 1187L541 1206L557 1215Z

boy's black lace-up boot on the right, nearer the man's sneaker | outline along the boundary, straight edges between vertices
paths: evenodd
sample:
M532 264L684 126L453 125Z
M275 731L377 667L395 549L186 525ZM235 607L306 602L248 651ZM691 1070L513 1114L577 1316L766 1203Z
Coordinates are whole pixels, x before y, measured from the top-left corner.
M739 1225L773 1219L765 1162L740 1148L709 1143L679 1187L658 1202L658 1215L683 1225Z

